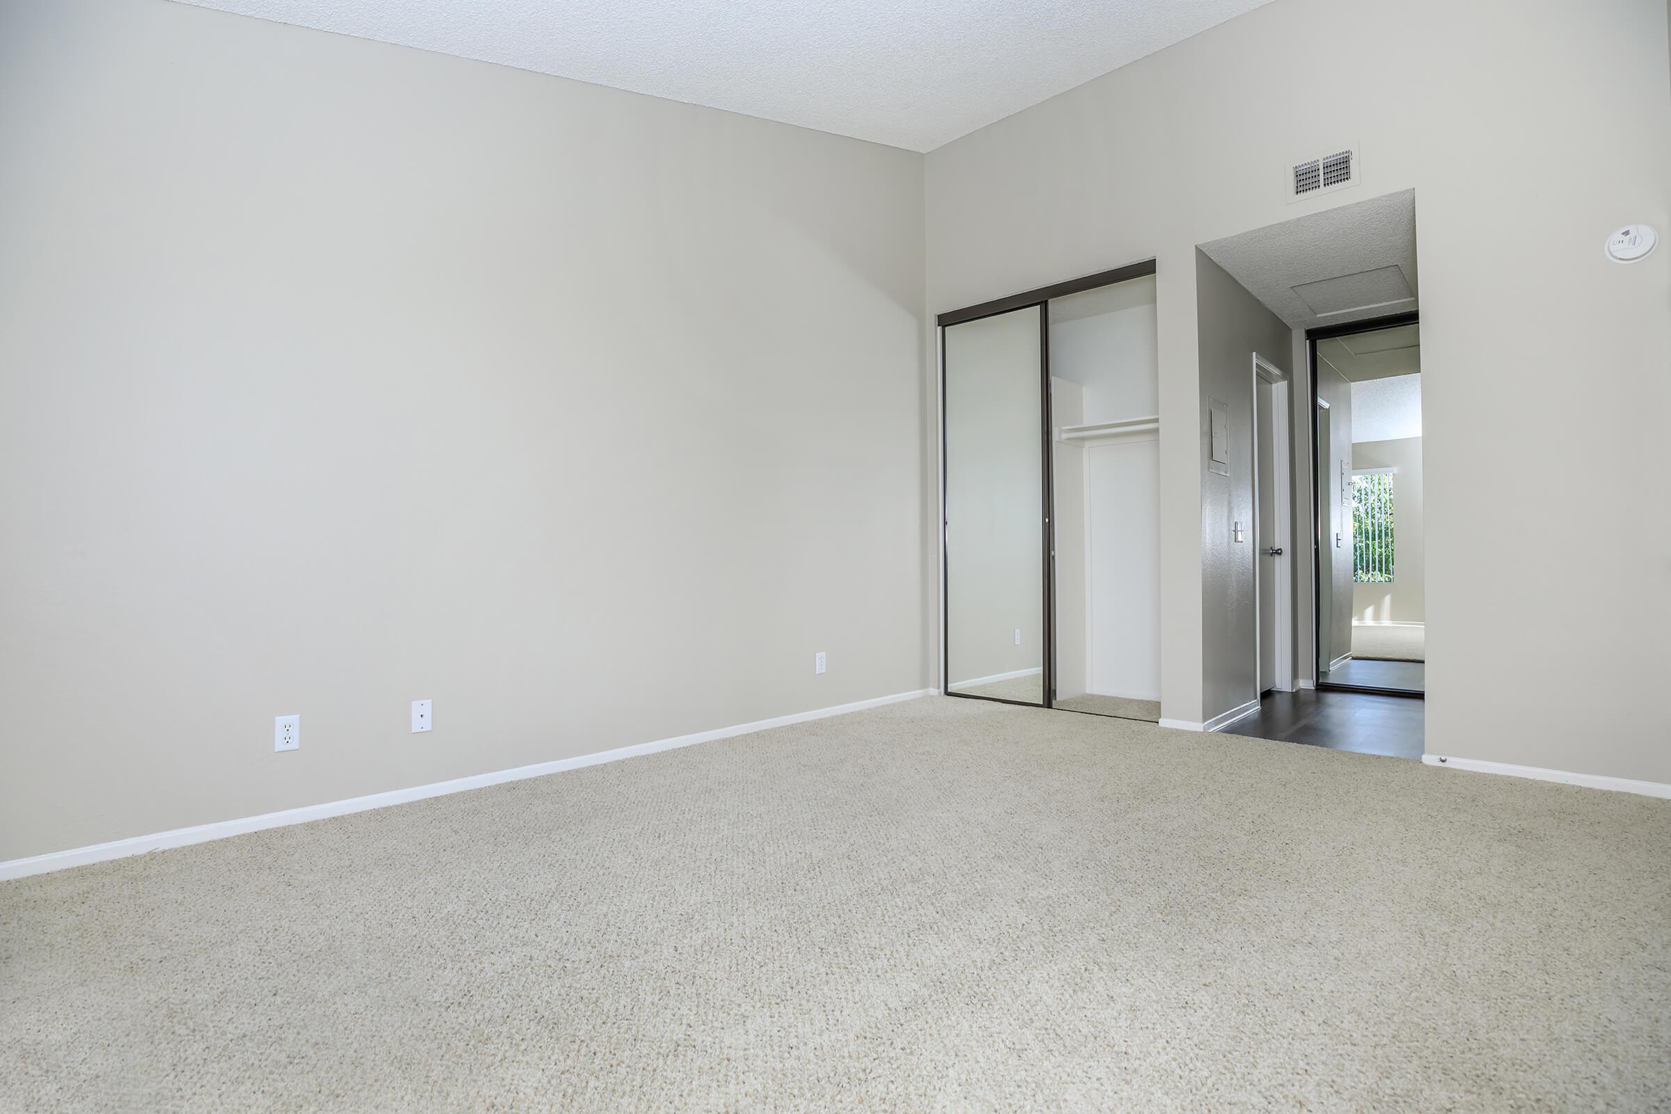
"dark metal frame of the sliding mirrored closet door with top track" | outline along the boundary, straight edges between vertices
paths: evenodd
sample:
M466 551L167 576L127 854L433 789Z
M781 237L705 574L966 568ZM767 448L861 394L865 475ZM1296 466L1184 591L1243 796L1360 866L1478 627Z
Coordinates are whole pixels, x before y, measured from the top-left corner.
M1155 261L1145 259L1125 267L1115 267L1113 271L1088 274L1081 279L1068 279L1066 282L1041 286L1036 291L1024 291L1021 294L1011 294L991 302L952 309L934 319L934 324L939 326L941 381L941 691L947 696L959 696L962 700L991 700L994 703L1021 705L1023 708L1051 708L1056 703L1056 526L1051 523L1051 513L1056 509L1056 478L1054 453L1051 453L1049 301L1053 297L1083 294L1084 291L1095 291L1100 286L1128 282L1151 274L1155 274ZM996 317L999 314L1009 314L1033 306L1038 306L1039 309L1039 414L1043 418L1039 423L1039 459L1043 464L1039 474L1043 476L1041 488L1044 498L1044 521L1041 523L1043 546L1039 554L1039 560L1044 563L1044 665L1041 703L1031 703L1028 700L1006 700L1003 696L978 696L974 693L954 693L951 690L951 561L946 553L946 329L949 326L961 326L983 317ZM1315 382L1312 386L1312 392L1317 392Z

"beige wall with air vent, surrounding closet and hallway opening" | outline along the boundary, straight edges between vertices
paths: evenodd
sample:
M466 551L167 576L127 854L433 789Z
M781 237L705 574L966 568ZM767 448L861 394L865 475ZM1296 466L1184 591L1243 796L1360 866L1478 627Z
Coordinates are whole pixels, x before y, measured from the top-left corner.
M1200 718L1211 636L1195 246L1414 187L1435 372L1427 748L1671 782L1671 596L1639 593L1671 576L1671 518L1621 479L1659 471L1671 252L1601 252L1621 224L1671 229L1671 144L1643 139L1671 132L1666 67L1663 0L1275 0L927 157L932 312L1156 259L1170 718ZM1285 167L1340 142L1362 184L1287 204ZM1574 394L1582 367L1608 391ZM1554 451L1502 453L1539 429L1561 429ZM1561 529L1491 560L1551 506ZM1596 538L1621 529L1639 576L1599 576Z

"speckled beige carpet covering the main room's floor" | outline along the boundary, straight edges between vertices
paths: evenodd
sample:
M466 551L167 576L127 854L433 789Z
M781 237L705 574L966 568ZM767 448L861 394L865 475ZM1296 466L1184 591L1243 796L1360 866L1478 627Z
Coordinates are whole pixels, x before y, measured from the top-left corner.
M917 700L0 884L0 1109L1648 1111L1671 802Z

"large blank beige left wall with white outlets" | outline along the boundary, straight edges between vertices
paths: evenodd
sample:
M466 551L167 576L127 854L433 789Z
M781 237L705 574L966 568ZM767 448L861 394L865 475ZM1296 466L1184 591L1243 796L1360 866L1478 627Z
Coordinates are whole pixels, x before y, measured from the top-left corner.
M931 683L921 155L162 0L0 150L0 860Z

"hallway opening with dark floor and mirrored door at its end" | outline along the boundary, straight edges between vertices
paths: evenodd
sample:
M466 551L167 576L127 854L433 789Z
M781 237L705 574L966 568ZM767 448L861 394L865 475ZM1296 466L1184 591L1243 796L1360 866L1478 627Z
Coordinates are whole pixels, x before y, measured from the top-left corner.
M1205 727L1420 758L1415 192L1198 251Z

